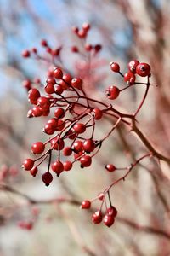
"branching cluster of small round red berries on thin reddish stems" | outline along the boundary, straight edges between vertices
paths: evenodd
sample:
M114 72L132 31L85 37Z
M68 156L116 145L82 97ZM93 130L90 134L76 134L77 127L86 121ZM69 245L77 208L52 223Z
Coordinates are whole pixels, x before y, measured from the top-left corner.
M77 27L74 27L73 32L82 40L87 38L89 29L90 25L84 23L82 29L79 30ZM27 116L29 118L49 116L42 130L49 138L46 142L36 142L31 145L31 152L36 156L36 159L26 159L23 163L23 168L35 177L39 166L44 160L48 159L47 171L42 174L42 182L48 186L53 181L53 174L59 177L62 172L70 171L76 162L80 164L81 168L91 166L94 156L99 152L102 144L110 137L117 125L120 122L124 125L130 125L128 119L133 119L135 122L136 115L139 113L140 108L142 108L150 87L150 65L136 60L130 61L127 64L128 71L123 75L119 64L111 62L111 70L122 76L125 87L119 89L116 85L108 86L105 90L107 99L115 100L123 90L129 89L132 85L143 84L146 86L144 97L136 112L133 114L121 113L116 108L113 108L111 104L87 96L83 80L80 77L73 77L71 73L65 71L65 67L56 65L54 56L59 56L59 52L54 54L54 49L49 48L46 40L42 40L41 44L52 55L52 64L54 65L53 68L50 67L48 70L46 83L43 85L44 94L42 94L39 88L32 86L33 83L29 80L25 80L24 86L28 90L28 101L33 105L28 111ZM97 53L101 46L99 44L95 46L85 44L85 49L87 51L94 50ZM76 46L71 50L76 53L79 52ZM22 55L29 57L31 52L36 55L37 59L42 59L40 55L37 55L37 49L35 48L31 51L25 50ZM147 80L142 83L137 82L136 76L146 77ZM40 84L40 80L37 79L36 83ZM105 117L113 119L111 130L105 137L97 140L95 138L96 125L99 120L105 119ZM150 154L144 155L144 157L146 156L150 156ZM142 160L144 157L139 160ZM127 170L124 177L127 176L135 165L121 168ZM114 172L120 168L116 168L113 164L107 164L105 169L108 172ZM122 178L124 179L124 177ZM115 183L122 180L122 178ZM102 219L104 219L104 224L107 226L111 226L114 223L117 211L111 204L109 190L115 183L112 183L109 188L105 189L97 197L102 203L100 209L93 215L92 220L94 224L99 224ZM109 197L110 207L107 207L106 195ZM82 208L90 208L91 202L88 200L83 201ZM102 213L103 205L105 205L104 218Z

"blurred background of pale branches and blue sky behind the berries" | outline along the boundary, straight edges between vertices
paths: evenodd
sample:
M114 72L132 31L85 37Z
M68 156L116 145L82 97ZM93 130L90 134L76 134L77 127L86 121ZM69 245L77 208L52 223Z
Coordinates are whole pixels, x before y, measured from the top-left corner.
M123 126L105 142L90 168L76 165L49 187L40 175L32 178L21 169L31 155L31 144L47 139L42 133L47 118L26 118L31 106L22 82L41 79L44 84L48 71L47 63L23 59L21 52L36 47L45 55L40 41L47 39L52 47L62 47L65 68L81 74L82 56L71 52L71 46L81 45L71 27L84 21L92 26L88 43L102 45L86 90L108 102L105 88L122 86L122 79L110 70L111 61L120 64L122 73L130 60L150 63L152 86L139 113L139 127L158 151L170 155L168 0L0 0L0 255L170 255L166 162L144 160L125 183L111 190L118 217L110 229L94 225L92 212L79 209L77 202L93 199L120 176L105 172L106 163L128 166L147 152ZM115 107L133 113L143 95L144 88L135 86L114 102ZM106 134L107 124L108 120L98 123L97 136ZM75 202L55 201L59 198ZM99 203L94 207L97 210ZM33 228L20 229L20 221L33 221Z

